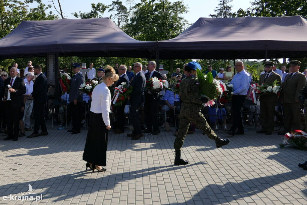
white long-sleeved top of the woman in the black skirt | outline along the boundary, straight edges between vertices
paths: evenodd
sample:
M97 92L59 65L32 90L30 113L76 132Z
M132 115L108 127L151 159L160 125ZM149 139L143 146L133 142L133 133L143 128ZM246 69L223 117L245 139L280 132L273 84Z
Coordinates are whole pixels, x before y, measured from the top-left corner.
M111 93L107 85L102 82L96 85L92 92L91 112L101 113L104 124L110 125L109 112L111 109Z

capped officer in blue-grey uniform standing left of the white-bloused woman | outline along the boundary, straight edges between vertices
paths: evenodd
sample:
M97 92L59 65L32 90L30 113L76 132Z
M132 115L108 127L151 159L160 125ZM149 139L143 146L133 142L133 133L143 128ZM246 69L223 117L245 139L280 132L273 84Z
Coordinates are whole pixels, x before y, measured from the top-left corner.
M69 90L69 108L72 117L72 129L67 132L71 132L72 135L80 133L81 128L81 103L83 100L82 92L79 90L80 85L84 82L84 76L80 71L79 63L72 63L72 72L75 74L70 80Z

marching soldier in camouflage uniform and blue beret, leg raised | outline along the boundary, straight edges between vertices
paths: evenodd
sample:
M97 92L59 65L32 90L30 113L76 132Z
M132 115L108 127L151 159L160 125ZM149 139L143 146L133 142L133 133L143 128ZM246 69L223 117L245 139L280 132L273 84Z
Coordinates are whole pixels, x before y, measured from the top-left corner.
M229 143L229 139L223 140L216 136L215 132L213 132L208 125L204 115L200 112L202 104L206 103L208 99L202 98L199 95L198 80L195 79L197 68L201 69L199 63L196 61L189 62L188 65L185 66L185 71L187 71L188 74L180 83L179 95L182 104L179 114L180 122L178 134L176 135L174 143L176 153L175 165L188 164L188 161L181 158L181 148L191 122L196 124L196 126L203 131L203 135L207 134L210 139L215 140L217 148Z

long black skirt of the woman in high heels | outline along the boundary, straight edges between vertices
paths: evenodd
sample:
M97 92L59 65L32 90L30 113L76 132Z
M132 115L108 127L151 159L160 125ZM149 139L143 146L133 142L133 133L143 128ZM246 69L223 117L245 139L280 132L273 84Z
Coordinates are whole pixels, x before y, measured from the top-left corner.
M107 163L108 130L103 122L101 113L90 112L83 160L91 164L106 166Z

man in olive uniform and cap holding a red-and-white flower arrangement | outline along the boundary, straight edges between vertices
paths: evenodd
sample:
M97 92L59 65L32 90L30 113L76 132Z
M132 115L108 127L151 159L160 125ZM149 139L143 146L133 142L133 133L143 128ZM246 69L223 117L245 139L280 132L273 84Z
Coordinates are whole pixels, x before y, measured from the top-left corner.
M266 61L264 62L265 73L260 76L260 84L271 83L275 80L280 84L280 75L274 73L273 71L274 62ZM275 105L277 103L277 94L269 93L267 95L260 96L260 120L261 120L261 130L256 133L266 133L266 135L271 135L274 130L274 113Z

